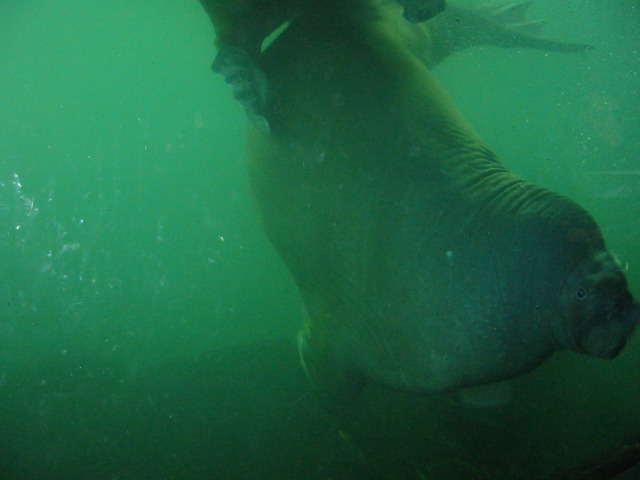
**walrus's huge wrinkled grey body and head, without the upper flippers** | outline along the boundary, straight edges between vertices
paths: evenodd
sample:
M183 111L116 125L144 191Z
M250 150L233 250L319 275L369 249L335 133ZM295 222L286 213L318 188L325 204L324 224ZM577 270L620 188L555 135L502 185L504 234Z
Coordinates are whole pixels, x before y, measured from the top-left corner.
M499 163L370 5L321 5L257 56L271 133L249 141L310 376L443 392L616 356L640 307L591 216Z

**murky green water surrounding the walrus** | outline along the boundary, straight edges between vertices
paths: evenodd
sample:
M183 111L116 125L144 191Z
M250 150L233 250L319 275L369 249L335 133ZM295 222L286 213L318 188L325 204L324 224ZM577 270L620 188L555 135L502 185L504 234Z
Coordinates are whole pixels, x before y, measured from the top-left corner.
M505 164L596 218L639 296L640 5L531 13L595 50L435 73ZM536 480L640 434L637 334L515 379L507 424L446 396L315 399L213 41L196 0L0 3L0 479Z

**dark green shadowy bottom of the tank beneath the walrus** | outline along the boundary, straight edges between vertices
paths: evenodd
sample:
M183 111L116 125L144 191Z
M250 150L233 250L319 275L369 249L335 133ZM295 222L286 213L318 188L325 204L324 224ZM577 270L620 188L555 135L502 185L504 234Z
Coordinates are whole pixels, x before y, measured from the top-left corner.
M375 388L335 405L310 390L287 342L124 372L66 357L5 367L0 478L602 480L640 458L639 442L621 442L588 469L550 477L574 466L553 444L534 448L508 409Z

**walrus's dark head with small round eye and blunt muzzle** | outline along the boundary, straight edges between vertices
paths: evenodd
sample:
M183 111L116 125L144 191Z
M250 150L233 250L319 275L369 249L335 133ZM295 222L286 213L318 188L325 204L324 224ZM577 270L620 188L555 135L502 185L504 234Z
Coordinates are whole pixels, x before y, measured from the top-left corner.
M561 322L568 328L566 345L598 358L614 358L624 348L640 319L618 262L601 251L582 260L560 294Z

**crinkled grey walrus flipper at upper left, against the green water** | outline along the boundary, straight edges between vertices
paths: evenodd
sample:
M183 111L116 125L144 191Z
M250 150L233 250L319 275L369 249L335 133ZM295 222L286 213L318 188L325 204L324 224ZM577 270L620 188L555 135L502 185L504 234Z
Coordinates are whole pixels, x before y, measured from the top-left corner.
M269 122L264 117L267 79L251 55L241 47L223 45L211 65L231 85L233 97L244 107L249 119L263 133L269 133Z

